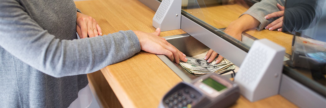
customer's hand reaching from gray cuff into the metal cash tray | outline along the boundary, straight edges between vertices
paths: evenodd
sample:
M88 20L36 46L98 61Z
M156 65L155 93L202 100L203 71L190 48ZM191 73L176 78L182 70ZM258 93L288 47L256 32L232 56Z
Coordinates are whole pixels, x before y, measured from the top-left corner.
M141 45L141 50L144 50L153 54L164 54L171 61L174 60L175 63L179 64L179 59L186 62L188 59L185 58L185 54L180 52L172 44L167 42L164 38L159 37L161 30L156 29L155 32L147 33L142 31L133 30L137 35L138 40Z

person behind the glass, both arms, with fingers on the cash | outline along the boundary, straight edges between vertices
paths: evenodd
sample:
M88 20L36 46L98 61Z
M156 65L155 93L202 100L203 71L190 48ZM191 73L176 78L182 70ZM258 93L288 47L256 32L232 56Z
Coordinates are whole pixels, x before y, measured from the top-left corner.
M298 1L295 1L298 2ZM288 9L288 16L285 19L284 27L286 31L293 31L296 28L302 29L309 26L312 19L315 17L316 2L318 0L311 0L294 3ZM244 12L238 19L232 21L229 26L224 30L225 33L234 37L235 39L241 40L241 34L243 31L257 28L257 30L268 29L284 31L283 28L283 15L285 0L262 0L251 6L246 12ZM323 2L321 3L323 4ZM295 20L296 19L296 20ZM216 57L217 53L212 49L208 51L205 56L205 60L211 63ZM222 56L219 55L215 63L219 63L222 60Z

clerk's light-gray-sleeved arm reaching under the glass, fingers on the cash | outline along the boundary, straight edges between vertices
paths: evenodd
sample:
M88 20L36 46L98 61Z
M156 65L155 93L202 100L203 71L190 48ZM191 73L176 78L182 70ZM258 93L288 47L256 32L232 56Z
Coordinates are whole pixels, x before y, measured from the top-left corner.
M244 12L238 19L232 21L229 26L224 30L225 33L241 40L241 34L243 31L256 28L262 30L268 23L272 22L276 18L265 19L264 16L279 11L276 4L284 6L285 0L262 0L251 6L246 12ZM267 28L274 30L275 28ZM216 57L217 53L210 49L205 56L205 60L211 63ZM215 60L215 63L221 62L223 57L219 55Z

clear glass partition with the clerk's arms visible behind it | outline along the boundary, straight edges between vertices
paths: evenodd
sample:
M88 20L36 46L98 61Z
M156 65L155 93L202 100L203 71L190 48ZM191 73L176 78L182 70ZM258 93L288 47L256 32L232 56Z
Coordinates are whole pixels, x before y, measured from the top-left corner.
M246 52L254 40L263 38L283 46L284 73L325 97L324 4L324 0L182 0L182 14ZM299 44L304 49L300 52L296 41L317 44L319 49L308 51L315 46Z

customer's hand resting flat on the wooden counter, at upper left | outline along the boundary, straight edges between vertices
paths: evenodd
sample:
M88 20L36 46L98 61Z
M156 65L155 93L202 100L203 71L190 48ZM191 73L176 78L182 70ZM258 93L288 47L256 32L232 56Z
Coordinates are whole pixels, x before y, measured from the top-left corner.
M76 30L81 39L87 38L87 35L89 37L97 37L98 35L102 35L102 30L97 24L96 20L80 12L77 12Z

